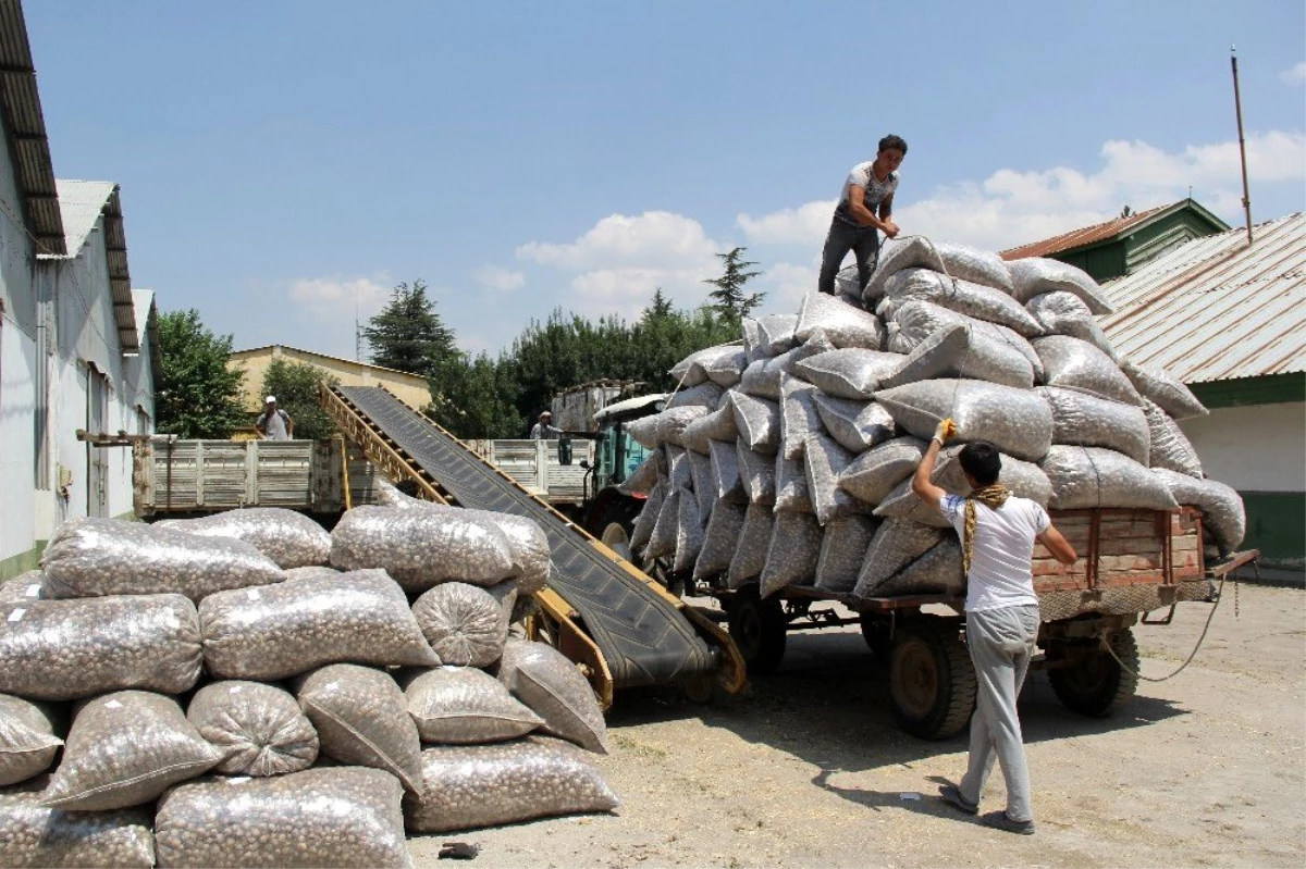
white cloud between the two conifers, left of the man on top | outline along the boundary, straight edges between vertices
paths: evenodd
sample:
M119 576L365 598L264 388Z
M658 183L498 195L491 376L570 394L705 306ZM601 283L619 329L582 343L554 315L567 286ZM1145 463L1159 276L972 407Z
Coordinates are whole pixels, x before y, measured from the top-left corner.
M560 303L564 311L632 320L657 287L678 308L701 304L708 294L703 279L720 271L716 253L727 248L697 221L645 211L609 215L569 244L530 241L517 248L517 257L579 273Z

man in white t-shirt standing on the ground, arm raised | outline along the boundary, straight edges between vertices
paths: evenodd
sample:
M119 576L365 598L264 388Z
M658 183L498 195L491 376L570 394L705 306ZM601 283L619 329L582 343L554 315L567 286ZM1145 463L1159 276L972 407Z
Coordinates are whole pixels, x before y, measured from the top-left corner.
M1053 527L1036 501L1011 495L998 478L1002 454L987 441L961 449L961 470L972 492L949 495L930 476L943 444L956 434L951 419L939 423L930 449L916 470L912 491L940 510L961 539L966 572L966 647L978 681L976 714L970 719L970 759L959 785L939 795L966 814L980 812L980 796L993 771L1002 765L1007 782L1007 810L985 821L1010 832L1030 835L1034 816L1029 805L1029 770L1016 715L1016 697L1037 650L1038 596L1032 560L1034 541L1042 543L1062 564L1075 564L1075 549Z

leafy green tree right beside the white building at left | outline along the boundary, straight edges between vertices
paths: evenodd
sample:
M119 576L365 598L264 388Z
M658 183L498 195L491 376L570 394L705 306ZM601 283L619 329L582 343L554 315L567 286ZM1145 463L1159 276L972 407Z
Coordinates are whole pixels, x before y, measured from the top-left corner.
M200 312L159 314L155 431L182 438L227 438L246 423L240 410L242 368L229 368L231 335L215 335Z

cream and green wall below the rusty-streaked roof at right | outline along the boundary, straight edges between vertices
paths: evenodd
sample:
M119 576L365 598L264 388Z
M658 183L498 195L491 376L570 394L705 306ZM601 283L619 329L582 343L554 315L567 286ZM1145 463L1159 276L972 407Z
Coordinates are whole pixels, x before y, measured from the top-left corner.
M1181 425L1207 476L1242 495L1243 548L1264 566L1306 570L1306 402L1215 407Z

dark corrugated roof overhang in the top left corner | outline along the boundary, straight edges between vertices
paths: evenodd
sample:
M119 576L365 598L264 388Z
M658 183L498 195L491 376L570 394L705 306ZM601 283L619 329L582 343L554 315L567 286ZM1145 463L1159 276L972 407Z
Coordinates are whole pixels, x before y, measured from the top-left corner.
M65 253L55 170L37 93L27 23L18 0L0 0L0 104L29 231L40 253Z

